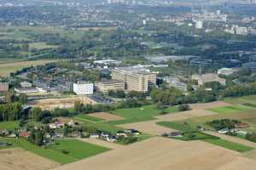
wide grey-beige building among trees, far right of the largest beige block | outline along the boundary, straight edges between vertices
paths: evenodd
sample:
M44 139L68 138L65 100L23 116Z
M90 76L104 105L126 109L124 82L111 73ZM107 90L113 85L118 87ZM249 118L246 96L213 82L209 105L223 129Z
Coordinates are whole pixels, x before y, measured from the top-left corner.
M219 82L222 85L226 84L224 78L218 77L218 74L207 73L203 75L192 75L192 80L198 81L198 85L203 86L206 82Z

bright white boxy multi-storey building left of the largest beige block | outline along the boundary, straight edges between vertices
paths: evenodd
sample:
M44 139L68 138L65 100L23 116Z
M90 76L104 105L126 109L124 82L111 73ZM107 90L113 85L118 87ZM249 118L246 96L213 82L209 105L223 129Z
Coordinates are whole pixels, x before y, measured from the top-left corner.
M93 83L91 82L73 83L73 92L78 95L93 94Z

